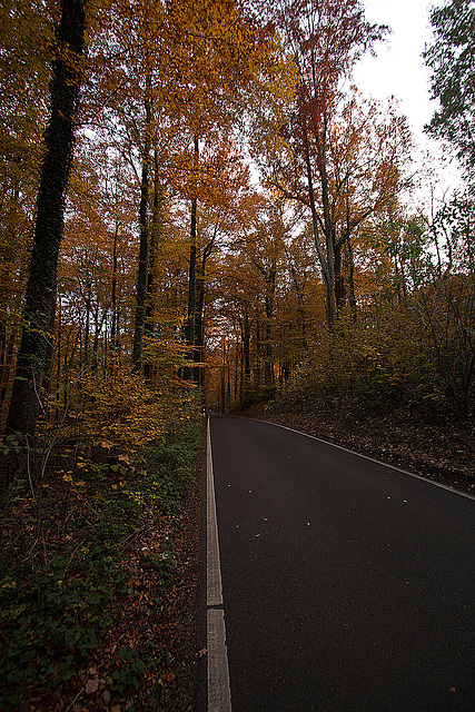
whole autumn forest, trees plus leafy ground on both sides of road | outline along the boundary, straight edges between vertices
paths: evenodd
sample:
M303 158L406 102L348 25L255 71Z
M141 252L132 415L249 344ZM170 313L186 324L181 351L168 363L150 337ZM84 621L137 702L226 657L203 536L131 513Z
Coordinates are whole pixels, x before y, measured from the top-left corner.
M468 477L474 16L428 18L441 190L354 83L359 0L2 2L0 709L188 709L208 408L452 436Z

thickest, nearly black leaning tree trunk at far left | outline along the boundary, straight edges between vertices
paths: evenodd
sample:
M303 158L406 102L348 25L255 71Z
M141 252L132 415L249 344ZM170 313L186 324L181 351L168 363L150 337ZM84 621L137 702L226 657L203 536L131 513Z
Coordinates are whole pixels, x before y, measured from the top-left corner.
M44 132L46 154L38 191L23 332L7 432L34 434L40 408L48 345L52 339L50 325L55 316L65 199L75 145L80 58L85 51L86 3L87 0L62 0L57 31L61 51L57 52L50 85L51 113ZM71 61L71 58L76 61Z

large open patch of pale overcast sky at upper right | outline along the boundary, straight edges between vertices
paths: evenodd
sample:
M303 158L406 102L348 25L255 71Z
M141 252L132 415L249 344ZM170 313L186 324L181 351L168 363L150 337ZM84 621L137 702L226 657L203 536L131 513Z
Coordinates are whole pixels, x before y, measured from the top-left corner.
M369 22L388 24L393 32L387 43L377 47L377 57L365 58L355 71L355 81L365 95L375 99L395 96L400 111L408 117L416 141L423 138L437 107L429 100L431 71L422 52L432 39L427 0L363 0Z

